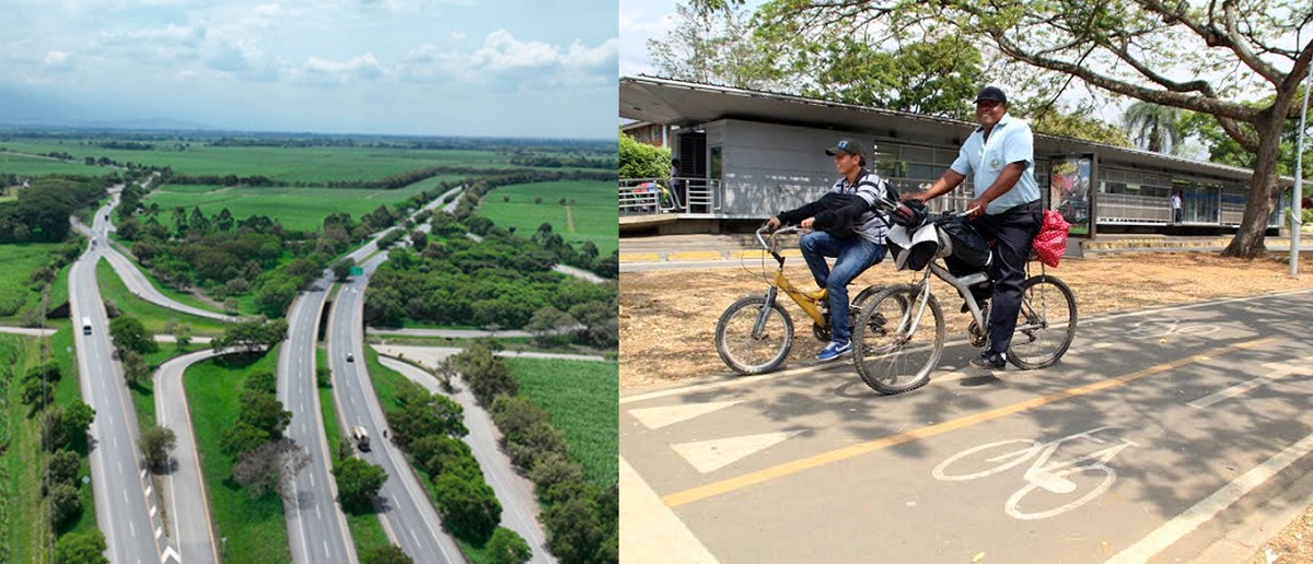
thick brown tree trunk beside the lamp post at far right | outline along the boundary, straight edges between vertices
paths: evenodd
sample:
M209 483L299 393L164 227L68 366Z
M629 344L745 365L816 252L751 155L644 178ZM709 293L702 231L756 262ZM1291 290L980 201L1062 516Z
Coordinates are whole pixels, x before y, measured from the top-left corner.
M1224 257L1258 258L1267 253L1263 240L1267 219L1272 216L1280 190L1276 182L1276 159L1280 155L1281 121L1260 118L1258 129L1258 160L1254 177L1249 182L1249 201L1239 222L1236 239L1222 249Z

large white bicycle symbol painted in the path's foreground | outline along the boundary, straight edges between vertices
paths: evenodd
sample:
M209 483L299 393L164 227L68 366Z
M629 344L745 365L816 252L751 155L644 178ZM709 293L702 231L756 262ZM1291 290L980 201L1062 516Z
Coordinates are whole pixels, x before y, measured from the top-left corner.
M1112 487L1117 471L1108 467L1108 462L1125 447L1137 445L1121 437L1109 439L1096 435L1115 429L1121 428L1100 426L1045 443L1029 438L991 442L953 455L931 473L944 481L966 481L1003 472L1033 458L1023 476L1027 484L1008 497L1003 509L1016 519L1046 519L1079 508ZM1060 446L1077 441L1092 442L1103 449L1067 460L1053 460ZM1040 491L1045 493L1036 493ZM1031 496L1031 502L1023 504L1027 496Z

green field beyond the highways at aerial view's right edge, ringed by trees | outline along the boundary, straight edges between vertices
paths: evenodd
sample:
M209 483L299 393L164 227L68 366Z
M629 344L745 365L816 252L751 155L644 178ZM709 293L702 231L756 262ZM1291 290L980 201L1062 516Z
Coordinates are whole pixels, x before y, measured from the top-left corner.
M511 201L507 202L506 198ZM542 203L533 203L542 198ZM562 206L561 198L574 199ZM567 241L592 241L601 256L618 247L614 182L570 181L502 186L483 197L478 214L500 227L515 227L530 236L538 226L550 223L553 232Z

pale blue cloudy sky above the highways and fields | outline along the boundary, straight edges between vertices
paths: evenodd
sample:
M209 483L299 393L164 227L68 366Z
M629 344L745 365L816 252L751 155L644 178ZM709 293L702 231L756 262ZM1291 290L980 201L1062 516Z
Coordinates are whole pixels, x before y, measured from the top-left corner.
M0 123L613 138L616 0L3 0Z

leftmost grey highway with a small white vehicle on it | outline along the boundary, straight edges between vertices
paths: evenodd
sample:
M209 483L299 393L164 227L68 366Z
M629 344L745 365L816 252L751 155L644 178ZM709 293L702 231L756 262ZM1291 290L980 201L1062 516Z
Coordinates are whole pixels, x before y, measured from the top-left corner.
M97 212L91 227L92 236L104 237L108 210ZM109 321L96 285L96 261L100 257L100 251L91 248L68 272L81 395L96 409L96 420L89 429L96 522L105 534L106 555L114 563L177 561L176 547L161 538L164 527L156 492L137 449L137 412L122 367L112 358ZM81 331L83 317L91 320L91 334Z

